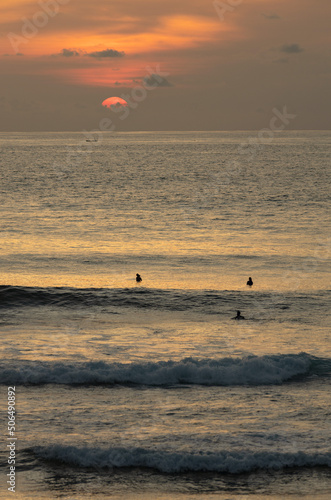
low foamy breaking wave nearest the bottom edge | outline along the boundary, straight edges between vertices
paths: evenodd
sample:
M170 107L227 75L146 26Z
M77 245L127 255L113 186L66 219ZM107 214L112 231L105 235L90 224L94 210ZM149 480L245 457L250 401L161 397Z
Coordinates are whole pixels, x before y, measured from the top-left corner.
M167 452L144 448L79 448L53 445L29 450L39 459L84 468L141 467L164 473L224 472L239 474L286 467L331 467L331 452L271 451Z

